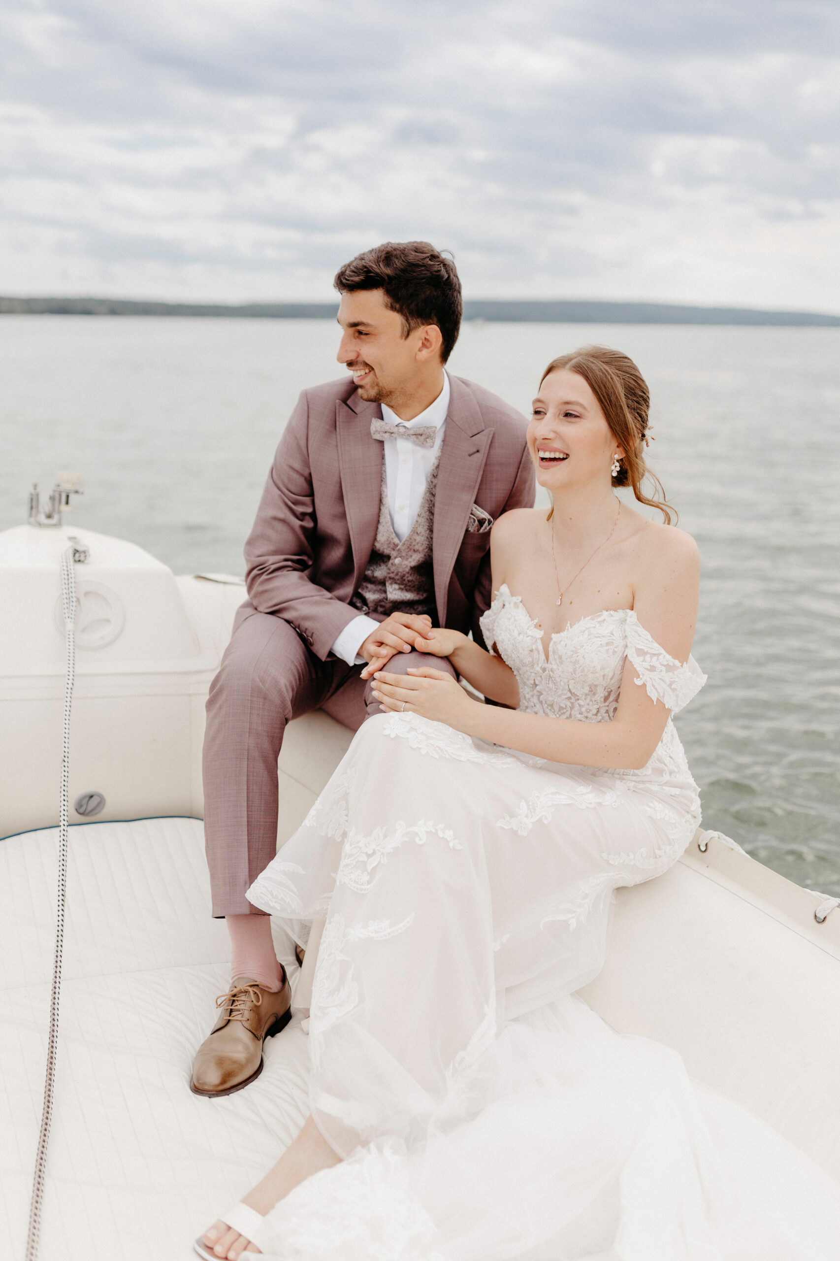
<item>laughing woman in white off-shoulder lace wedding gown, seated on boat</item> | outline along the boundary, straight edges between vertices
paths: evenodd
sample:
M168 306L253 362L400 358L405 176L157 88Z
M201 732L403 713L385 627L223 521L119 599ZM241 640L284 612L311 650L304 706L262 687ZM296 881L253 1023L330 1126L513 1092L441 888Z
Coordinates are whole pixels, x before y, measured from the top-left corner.
M203 1256L831 1255L836 1185L575 996L613 890L666 871L700 822L671 723L705 682L699 556L642 493L647 426L626 356L549 364L528 449L554 507L493 527L489 651L417 643L498 705L443 671L367 667L383 712L248 892L303 946L325 921L310 1116Z

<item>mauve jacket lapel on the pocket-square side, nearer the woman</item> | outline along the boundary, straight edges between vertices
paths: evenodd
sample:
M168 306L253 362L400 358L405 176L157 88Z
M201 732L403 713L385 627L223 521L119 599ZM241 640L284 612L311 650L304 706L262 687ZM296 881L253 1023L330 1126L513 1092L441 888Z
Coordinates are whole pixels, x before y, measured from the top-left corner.
M493 430L484 425L481 409L469 390L457 377L450 376L449 381L452 396L438 469L431 547L435 603L441 625L446 624L449 579L493 438Z

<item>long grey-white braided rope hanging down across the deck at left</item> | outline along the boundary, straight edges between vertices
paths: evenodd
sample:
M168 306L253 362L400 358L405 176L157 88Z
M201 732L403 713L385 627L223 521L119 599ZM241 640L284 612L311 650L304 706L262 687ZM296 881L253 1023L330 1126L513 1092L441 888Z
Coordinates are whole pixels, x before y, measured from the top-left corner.
M69 813L69 719L73 705L76 677L76 575L73 561L77 551L67 547L62 552L62 608L67 632L67 673L64 676L64 733L62 743L62 788L58 826L58 909L55 915L55 953L53 957L53 989L49 999L49 1038L47 1042L47 1079L44 1082L44 1107L40 1117L38 1151L35 1153L35 1178L29 1208L25 1261L35 1261L40 1235L40 1209L44 1199L47 1144L53 1120L53 1090L55 1086L55 1052L58 1045L58 1000L62 985L62 951L64 946L64 899L67 893L67 820ZM79 555L79 560L81 560Z

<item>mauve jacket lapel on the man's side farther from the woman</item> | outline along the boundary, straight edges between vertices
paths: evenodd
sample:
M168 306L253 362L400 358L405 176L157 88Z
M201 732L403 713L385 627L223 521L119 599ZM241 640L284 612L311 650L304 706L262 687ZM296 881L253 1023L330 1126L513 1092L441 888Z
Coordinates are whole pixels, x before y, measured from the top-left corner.
M371 420L381 415L378 404L363 402L357 393L335 404L338 467L353 549L353 590L370 560L380 520L383 444L371 438Z

